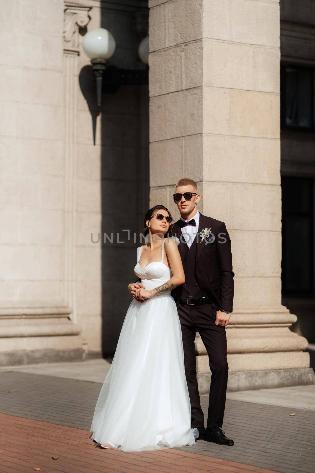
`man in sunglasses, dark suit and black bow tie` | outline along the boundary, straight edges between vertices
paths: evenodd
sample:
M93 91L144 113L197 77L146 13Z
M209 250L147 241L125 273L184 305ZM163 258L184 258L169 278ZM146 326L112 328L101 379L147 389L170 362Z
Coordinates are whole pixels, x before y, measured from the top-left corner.
M197 184L181 179L173 194L181 219L173 227L185 272L185 283L172 291L182 326L185 375L191 401L191 427L199 437L221 445L234 445L221 429L228 378L225 326L229 323L234 284L231 240L224 222L206 217L197 209ZM201 232L201 236L199 233ZM203 236L203 238L202 238ZM141 283L129 284L130 293ZM211 385L207 429L197 384L195 336L198 330L209 357Z

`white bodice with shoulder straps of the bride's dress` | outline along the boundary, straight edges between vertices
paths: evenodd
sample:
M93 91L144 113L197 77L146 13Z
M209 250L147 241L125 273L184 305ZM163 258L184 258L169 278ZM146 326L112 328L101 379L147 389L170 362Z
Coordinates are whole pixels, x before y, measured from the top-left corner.
M175 241L176 245L179 245L179 239L177 237L171 236L171 238ZM144 268L142 268L139 264L141 251L144 245L137 248L137 264L134 267L134 272L141 279L142 284L148 290L157 288L161 284L164 284L166 281L171 279L173 276L171 268L163 263L164 243L165 240L162 243L161 261L153 261L152 263L147 264Z

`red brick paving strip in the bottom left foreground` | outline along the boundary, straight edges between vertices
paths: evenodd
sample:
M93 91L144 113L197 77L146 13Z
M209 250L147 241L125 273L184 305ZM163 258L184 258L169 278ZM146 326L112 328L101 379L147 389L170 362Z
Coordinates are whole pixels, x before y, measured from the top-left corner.
M95 448L90 432L0 414L0 471L26 473L274 473L182 450L125 453Z

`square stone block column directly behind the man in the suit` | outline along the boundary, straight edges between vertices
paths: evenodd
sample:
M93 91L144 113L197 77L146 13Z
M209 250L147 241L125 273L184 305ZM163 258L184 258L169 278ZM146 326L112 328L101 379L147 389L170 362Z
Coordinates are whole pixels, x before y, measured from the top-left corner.
M191 177L199 210L232 240L229 390L314 382L307 340L281 304L278 0L150 0L150 199L178 217ZM196 337L200 392L211 373Z

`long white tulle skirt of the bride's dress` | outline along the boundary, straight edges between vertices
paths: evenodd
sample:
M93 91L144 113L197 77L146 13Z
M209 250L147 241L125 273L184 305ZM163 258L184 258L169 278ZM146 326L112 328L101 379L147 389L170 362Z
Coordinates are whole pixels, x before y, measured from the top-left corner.
M92 440L124 452L195 443L181 324L170 294L131 302L91 431Z

